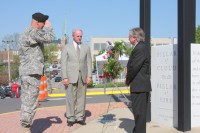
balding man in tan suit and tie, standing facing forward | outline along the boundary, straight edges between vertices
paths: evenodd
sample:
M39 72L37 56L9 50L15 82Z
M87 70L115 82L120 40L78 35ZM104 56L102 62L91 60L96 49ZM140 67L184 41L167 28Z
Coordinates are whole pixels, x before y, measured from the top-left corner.
M88 45L82 44L82 30L72 33L73 42L62 49L61 72L66 87L66 117L68 126L85 125L86 88L92 77L92 58Z

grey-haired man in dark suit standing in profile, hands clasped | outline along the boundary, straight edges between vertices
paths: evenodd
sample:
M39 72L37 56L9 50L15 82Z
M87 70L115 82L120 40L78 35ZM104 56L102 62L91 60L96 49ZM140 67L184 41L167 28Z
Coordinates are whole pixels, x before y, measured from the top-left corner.
M141 28L129 31L129 41L134 45L127 64L126 85L130 85L132 111L135 118L133 133L146 133L146 113L150 83L149 44L144 43L145 33Z

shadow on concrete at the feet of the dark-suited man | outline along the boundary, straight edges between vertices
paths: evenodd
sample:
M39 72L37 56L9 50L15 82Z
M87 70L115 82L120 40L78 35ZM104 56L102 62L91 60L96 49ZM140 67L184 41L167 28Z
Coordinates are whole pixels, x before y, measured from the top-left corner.
M119 125L119 128L122 128L126 131L126 133L132 133L133 128L135 127L135 121L132 119L127 118L120 118L120 121L122 121Z

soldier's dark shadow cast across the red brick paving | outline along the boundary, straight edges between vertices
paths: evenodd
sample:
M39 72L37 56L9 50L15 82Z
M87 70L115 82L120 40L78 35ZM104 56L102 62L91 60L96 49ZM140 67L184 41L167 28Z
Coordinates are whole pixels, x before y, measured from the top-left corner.
M32 133L43 133L46 129L52 126L52 124L60 124L62 120L57 116L51 116L47 118L39 118L34 120L31 126Z

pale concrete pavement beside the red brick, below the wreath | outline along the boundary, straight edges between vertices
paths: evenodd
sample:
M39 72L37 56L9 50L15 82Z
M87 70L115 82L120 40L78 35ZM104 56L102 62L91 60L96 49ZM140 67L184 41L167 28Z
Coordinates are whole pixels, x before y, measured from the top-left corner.
M90 133L90 131L91 133L132 133L134 125L134 117L128 108L116 108L72 133ZM147 123L147 133L181 132L172 127L150 122ZM200 128L193 128L187 133L200 133Z

